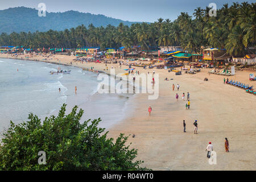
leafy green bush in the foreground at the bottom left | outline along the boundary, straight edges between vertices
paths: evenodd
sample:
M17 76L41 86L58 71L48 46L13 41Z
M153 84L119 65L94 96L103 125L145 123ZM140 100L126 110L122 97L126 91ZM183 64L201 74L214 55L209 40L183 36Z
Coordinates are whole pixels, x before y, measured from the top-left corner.
M36 115L29 121L11 126L3 133L0 146L2 170L145 170L134 161L137 150L126 146L120 134L115 142L108 132L97 127L101 119L80 123L83 110L75 106L65 115L64 104L57 117L43 123ZM46 152L46 163L38 164L39 151Z

